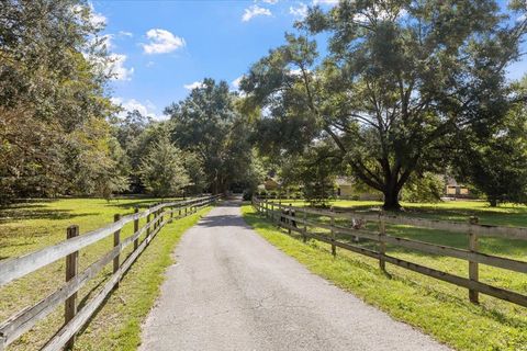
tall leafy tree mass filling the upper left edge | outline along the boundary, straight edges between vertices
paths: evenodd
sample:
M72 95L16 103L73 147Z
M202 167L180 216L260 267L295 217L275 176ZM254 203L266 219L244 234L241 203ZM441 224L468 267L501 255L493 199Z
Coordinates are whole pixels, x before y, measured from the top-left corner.
M122 189L108 143L113 107L99 30L83 1L2 1L0 203Z

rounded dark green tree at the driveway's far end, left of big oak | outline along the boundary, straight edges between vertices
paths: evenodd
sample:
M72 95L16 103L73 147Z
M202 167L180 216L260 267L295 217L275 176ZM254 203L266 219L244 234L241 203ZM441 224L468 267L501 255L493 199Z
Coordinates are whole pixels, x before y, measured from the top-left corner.
M208 78L187 99L166 109L172 140L199 158L213 193L251 174L249 129L237 112L236 99L225 81Z

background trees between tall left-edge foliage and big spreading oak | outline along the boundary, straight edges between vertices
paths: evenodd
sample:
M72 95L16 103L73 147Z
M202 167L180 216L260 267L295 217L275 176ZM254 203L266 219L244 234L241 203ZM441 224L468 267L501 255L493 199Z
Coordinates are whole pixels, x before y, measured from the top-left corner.
M262 171L238 101L225 81L208 78L166 109L168 121L152 121L137 111L114 118L119 165L130 180L128 191L168 196L256 186Z

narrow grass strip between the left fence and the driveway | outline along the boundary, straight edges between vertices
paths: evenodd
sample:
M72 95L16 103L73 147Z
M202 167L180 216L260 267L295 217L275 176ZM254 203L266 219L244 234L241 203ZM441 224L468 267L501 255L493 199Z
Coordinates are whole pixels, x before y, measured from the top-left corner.
M212 207L168 224L121 281L119 290L77 339L79 350L136 350L141 326L160 293L166 269L175 263L173 249L187 229ZM115 321L114 324L112 321ZM96 330L97 329L97 333Z

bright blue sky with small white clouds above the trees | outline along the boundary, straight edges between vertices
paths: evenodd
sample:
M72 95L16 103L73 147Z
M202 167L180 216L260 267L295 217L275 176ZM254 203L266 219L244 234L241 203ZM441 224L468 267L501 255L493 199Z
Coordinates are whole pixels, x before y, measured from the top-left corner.
M94 0L93 18L105 23L101 34L115 59L110 93L124 109L162 118L162 110L204 77L235 89L235 80L281 45L313 2L330 7L338 0ZM509 77L526 70L524 59Z

